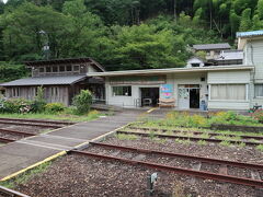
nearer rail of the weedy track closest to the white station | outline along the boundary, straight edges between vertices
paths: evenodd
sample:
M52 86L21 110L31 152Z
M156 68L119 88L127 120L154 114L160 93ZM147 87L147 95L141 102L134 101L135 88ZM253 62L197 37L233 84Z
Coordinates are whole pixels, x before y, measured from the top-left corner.
M137 136L145 136L145 137L150 137L150 134L147 132L137 132L137 131L123 131L123 130L117 130L117 134L126 134L126 135L137 135ZM199 137L188 137L188 136L175 136L175 135L163 135L163 134L155 134L156 137L158 138L173 138L173 139L183 139L183 140L192 140L192 141L208 141L208 142L216 142L220 143L222 141L229 141L233 143L245 143L250 146L259 146L263 144L261 142L252 142L252 141L240 141L240 140L220 140L220 139L210 139L210 138L199 138Z

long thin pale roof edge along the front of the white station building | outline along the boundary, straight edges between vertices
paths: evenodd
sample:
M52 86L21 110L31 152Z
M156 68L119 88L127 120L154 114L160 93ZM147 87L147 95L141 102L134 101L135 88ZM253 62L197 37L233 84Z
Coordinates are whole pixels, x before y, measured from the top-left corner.
M230 70L252 70L254 66L215 66L201 68L171 68L171 69L146 69L146 70L125 70L111 72L90 72L88 77L115 77L115 76L144 76L144 74L167 74L167 73L191 73L205 71L230 71Z

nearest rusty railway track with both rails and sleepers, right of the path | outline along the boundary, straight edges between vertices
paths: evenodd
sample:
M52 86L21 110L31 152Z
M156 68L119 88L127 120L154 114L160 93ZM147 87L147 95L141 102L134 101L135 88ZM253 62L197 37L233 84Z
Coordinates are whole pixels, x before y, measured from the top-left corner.
M138 148L132 148L132 147L123 147L123 146L113 146L107 143L98 143L98 142L91 142L92 147L95 148L92 151L79 151L79 150L71 150L69 153L73 154L80 154L84 157L90 158L96 158L102 160L113 160L118 162L128 163L132 165L141 165L150 169L161 170L161 171L168 171L172 173L179 173L184 175L191 175L202 178L208 178L214 181L220 181L220 182L228 182L233 184L241 184L247 186L253 186L263 188L263 165L260 164L252 164L252 163L242 163L242 162L233 162L233 161L226 161L226 160L216 160L216 159L209 159L209 158L202 158L202 157L193 157L187 154L176 154L171 152L162 152L162 151L155 151L149 149L138 149ZM130 158L130 152L133 153L133 157ZM128 155L128 157L127 157ZM152 162L150 157L153 157L158 162ZM127 159L128 158L128 159ZM174 166L174 164L171 164L169 162L169 165L162 164L158 159L162 159L163 161L168 162L168 159L173 161L175 158L180 158L183 160L194 161L197 162L197 167L182 167L182 166ZM163 159L164 158L164 159ZM171 165L170 165L171 164ZM210 172L208 170L201 170L202 165L219 165L219 172ZM250 172L251 177L245 176L239 176L237 174L231 175L228 174L228 171L232 171L231 167L238 167L241 170L245 170Z

